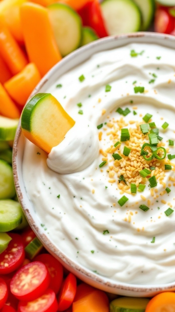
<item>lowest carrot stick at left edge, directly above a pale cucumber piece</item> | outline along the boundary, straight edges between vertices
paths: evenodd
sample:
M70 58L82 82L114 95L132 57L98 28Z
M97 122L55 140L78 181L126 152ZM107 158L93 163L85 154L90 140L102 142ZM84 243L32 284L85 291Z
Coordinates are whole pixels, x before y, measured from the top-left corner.
M19 118L20 112L0 83L0 114L8 118Z

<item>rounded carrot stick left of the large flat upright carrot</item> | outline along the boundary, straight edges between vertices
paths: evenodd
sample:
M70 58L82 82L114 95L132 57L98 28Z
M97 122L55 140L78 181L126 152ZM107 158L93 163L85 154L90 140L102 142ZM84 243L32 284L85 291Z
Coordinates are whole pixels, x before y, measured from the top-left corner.
M0 55L13 75L21 71L27 64L25 54L3 23L0 23Z

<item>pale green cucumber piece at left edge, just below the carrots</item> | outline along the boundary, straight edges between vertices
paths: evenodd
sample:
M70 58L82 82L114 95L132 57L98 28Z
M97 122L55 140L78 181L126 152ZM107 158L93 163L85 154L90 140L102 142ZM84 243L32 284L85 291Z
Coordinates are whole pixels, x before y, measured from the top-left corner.
M0 140L14 140L19 119L0 116Z

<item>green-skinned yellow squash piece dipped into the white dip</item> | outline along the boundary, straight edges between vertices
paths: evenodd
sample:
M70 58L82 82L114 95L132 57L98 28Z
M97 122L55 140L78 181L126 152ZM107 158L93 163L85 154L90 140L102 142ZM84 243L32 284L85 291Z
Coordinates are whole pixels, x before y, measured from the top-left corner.
M22 132L32 143L50 153L75 121L50 93L38 93L26 104L21 115Z

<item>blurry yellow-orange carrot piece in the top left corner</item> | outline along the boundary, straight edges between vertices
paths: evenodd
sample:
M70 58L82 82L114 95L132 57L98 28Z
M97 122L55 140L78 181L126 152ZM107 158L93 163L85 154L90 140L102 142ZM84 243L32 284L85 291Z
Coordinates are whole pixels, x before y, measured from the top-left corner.
M0 20L5 22L12 36L23 43L23 34L20 20L20 6L27 0L2 0L0 1Z

